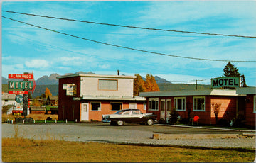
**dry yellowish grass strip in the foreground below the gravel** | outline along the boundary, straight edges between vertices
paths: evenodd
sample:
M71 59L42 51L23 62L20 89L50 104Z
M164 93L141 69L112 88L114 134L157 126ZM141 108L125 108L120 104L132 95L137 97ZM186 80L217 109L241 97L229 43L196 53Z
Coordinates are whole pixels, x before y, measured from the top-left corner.
M29 152L28 152L29 151ZM253 162L254 150L2 139L4 162Z

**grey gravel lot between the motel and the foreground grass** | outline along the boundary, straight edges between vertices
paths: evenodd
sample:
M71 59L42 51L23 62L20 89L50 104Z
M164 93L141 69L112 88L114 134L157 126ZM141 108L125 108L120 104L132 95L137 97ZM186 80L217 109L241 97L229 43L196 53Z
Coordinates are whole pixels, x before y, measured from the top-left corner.
M124 125L110 126L102 123L57 123L57 124L7 124L3 123L2 137L14 137L18 130L18 137L33 138L35 140L57 139L81 142L114 142L146 145L182 145L196 147L242 147L255 149L255 138L208 138L171 140L155 140L154 133L252 133L200 128L177 128L160 125ZM18 128L18 129L17 129ZM173 131L173 132L171 132Z

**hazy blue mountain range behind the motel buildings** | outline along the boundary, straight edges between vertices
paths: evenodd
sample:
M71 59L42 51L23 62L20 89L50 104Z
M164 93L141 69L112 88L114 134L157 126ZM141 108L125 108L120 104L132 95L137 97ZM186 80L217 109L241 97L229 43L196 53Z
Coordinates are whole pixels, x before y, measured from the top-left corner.
M95 74L93 72L75 72L75 74ZM73 73L68 73L73 74ZM65 74L67 75L67 74ZM50 93L54 96L58 95L58 79L56 77L59 74L50 74L50 76L44 75L36 80L36 89L33 92L33 97L41 96L44 94L46 88L50 89ZM142 79L146 79L142 77ZM178 90L196 90L195 84L172 84L164 78L155 76L156 83L159 86L160 91L178 91ZM210 85L199 85L198 89L210 89ZM8 92L8 79L2 77L2 91Z

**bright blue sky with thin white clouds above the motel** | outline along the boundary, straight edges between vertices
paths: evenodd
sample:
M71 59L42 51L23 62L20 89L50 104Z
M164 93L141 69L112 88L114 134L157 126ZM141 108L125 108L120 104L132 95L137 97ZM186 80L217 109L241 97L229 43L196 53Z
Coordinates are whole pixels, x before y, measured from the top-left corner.
M202 33L256 36L256 1L5 1L2 11L81 21ZM112 45L181 57L256 60L256 38L175 33L63 21L15 13L1 16ZM174 83L210 84L228 62L191 60L93 43L1 19L2 76L34 72L153 74ZM256 86L255 62L231 62Z

